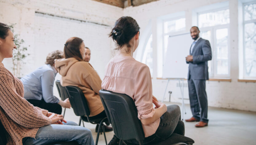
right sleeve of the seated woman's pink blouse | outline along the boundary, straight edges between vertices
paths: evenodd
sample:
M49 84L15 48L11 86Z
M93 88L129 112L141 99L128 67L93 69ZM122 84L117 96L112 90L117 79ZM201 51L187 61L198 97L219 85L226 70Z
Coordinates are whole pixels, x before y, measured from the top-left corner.
M138 118L146 119L155 113L152 103L152 82L147 65L139 69L135 78L134 102L138 110Z

